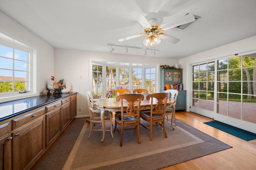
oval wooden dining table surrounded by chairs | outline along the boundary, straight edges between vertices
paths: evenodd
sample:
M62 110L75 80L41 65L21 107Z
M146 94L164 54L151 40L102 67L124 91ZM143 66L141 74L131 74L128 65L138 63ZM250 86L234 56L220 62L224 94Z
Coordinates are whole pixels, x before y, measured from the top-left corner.
M172 105L174 104L174 100L167 99L166 103L167 103L168 107L172 107ZM128 105L126 105L126 104L128 104L128 102L124 102L124 107L128 107ZM121 102L117 102L116 98L102 98L101 100L97 100L95 102L95 105L98 107L98 109L101 109L100 117L101 117L101 122L102 122L103 137L100 141L103 143L104 139L105 139L104 112L106 110L112 111L112 112L121 111ZM136 105L136 103L135 103L135 105ZM157 100L155 98L153 99L153 105L157 105ZM144 99L140 103L140 110L150 109L150 106L151 106L151 100ZM174 115L172 116L172 118L173 117L174 117ZM172 125L172 129L174 129L173 125Z

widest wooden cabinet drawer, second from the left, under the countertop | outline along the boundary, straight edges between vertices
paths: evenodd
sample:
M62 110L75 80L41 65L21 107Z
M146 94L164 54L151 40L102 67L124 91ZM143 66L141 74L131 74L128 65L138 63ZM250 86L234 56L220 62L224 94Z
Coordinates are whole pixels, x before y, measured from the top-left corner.
M25 125L26 123L33 121L44 114L45 114L45 108L43 107L41 109L37 109L36 111L33 111L33 112L23 115L21 117L13 119L12 120L12 130L14 130L18 127L21 127L22 125Z

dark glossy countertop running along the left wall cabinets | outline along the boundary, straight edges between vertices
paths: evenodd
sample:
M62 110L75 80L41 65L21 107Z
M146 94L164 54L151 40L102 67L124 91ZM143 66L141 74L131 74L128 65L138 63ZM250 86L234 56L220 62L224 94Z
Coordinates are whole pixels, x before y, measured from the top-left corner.
M24 98L20 100L13 100L10 102L0 103L0 122L16 115L20 115L32 109L36 109L38 107L44 106L46 104L50 104L55 102L56 100L60 100L62 98L66 98L77 92L69 92L69 93L60 93L55 95L40 95L31 98Z

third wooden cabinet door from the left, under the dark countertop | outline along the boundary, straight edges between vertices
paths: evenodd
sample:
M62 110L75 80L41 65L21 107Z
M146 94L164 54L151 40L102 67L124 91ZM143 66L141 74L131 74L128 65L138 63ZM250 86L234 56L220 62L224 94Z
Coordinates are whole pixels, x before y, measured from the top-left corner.
M62 131L60 107L46 114L46 148L48 148Z

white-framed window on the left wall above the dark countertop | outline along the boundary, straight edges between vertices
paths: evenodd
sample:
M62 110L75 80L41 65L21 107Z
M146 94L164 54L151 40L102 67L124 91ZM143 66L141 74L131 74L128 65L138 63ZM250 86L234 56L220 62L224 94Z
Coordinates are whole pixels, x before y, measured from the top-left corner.
M0 33L0 102L38 95L36 61L35 49Z

